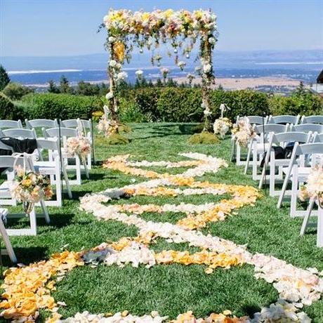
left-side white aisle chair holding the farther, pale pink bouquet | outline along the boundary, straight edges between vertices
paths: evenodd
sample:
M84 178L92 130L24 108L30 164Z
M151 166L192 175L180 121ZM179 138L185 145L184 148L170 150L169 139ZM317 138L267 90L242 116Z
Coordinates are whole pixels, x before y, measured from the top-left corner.
M74 157L70 157L67 152L67 138L70 137L78 137L79 132L74 128L43 128L44 137L48 138L60 138L61 142L61 157L62 163L65 164L65 169L67 171L73 171L76 173L76 180L69 180L71 185L81 185L81 159L79 156L74 155ZM70 162L74 162L74 164L70 164Z

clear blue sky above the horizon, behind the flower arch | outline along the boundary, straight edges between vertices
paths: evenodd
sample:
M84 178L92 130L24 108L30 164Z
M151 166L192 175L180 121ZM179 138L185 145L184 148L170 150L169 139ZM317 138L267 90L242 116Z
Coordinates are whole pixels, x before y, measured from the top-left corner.
M323 48L323 0L0 0L0 56L103 53L110 7L211 8L221 51Z

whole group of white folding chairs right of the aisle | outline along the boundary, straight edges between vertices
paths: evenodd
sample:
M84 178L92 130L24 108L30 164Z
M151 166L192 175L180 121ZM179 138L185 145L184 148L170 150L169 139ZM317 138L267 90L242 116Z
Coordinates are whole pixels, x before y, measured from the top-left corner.
M317 246L323 246L323 210L313 211L315 201L310 201L306 211L297 209L298 193L301 185L306 182L310 169L317 164L323 164L323 116L314 117L315 121L322 120L322 124L265 124L263 117L248 117L256 137L247 147L244 171L247 173L249 166L252 166L252 177L253 180L259 180L259 188L269 184L270 196L279 197L278 208L282 206L284 199L290 199L290 216L304 217L301 235L308 227L310 215L318 216ZM261 124L255 124L253 121ZM234 145L237 146L237 143ZM276 157L277 148L285 153L289 152L289 156ZM239 164L242 163L239 160ZM259 175L261 164L263 168ZM282 187L277 188L279 184L282 184ZM289 185L291 190L287 190Z

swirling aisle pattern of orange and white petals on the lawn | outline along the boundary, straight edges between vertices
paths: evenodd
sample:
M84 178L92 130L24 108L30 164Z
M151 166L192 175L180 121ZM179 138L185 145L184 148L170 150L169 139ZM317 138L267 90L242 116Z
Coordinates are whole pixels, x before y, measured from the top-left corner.
M259 197L258 191L249 186L213 184L209 182L195 181L196 176L204 173L216 173L227 164L223 159L206 156L204 154L187 153L184 157L195 159L183 162L128 162L128 155L117 156L108 159L105 167L122 171L135 176L151 178L144 183L128 185L122 188L105 190L93 195L81 198L81 209L93 213L103 220L119 220L126 225L135 225L138 228L138 237L121 238L112 244L103 243L91 251L79 253L64 251L52 256L48 261L41 261L22 268L12 268L6 272L6 278L2 288L4 300L0 303L3 309L1 316L11 319L13 322L34 322L37 319L38 310L41 308L50 310L53 315L48 322L310 322L304 312L298 312L303 305L310 305L312 301L320 298L323 291L323 279L315 268L302 270L287 264L272 256L261 253L251 254L245 246L239 246L233 242L211 235L203 235L197 228L204 227L209 221L224 220L226 216L233 214L232 210L244 205L253 205ZM166 168L188 167L184 173L170 175L169 173L157 173L146 171L138 167L163 166ZM170 187L167 187L170 186ZM173 187L178 188L173 188ZM182 189L182 187L189 187ZM228 193L232 199L225 199L218 204L208 203L194 204L122 204L104 205L113 199L130 197L135 195L152 196L178 196L178 195L223 195ZM186 218L177 224L159 223L143 220L138 215L144 212L162 213L165 211L181 212ZM127 214L128 213L128 214ZM164 250L159 253L149 248L154 239L158 237L167 242L188 242L190 246L196 246L202 250L196 253L187 251ZM51 296L51 290L55 289L55 282L60 281L64 275L73 268L88 263L91 266L103 262L105 265L131 264L133 267L143 264L147 268L157 264L180 263L183 265L205 265L205 272L210 274L215 268L230 268L232 265L249 263L254 266L255 277L263 278L266 282L273 283L279 291L279 300L255 313L253 319L249 317L234 317L230 311L220 314L212 313L204 319L197 319L192 312L178 315L177 319L169 321L167 317L159 316L158 312L142 317L131 315L128 312L118 312L114 315L91 315L88 312L77 313L74 317L61 320L58 307L65 303L57 302Z

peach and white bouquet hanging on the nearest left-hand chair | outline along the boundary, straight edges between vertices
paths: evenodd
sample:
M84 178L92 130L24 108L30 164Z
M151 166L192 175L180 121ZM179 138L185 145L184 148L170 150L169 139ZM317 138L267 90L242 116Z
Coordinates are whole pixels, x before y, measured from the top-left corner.
M21 166L18 166L15 171L11 193L15 199L22 202L25 213L30 213L34 204L41 199L51 199L53 190L46 176L34 171L26 171Z

